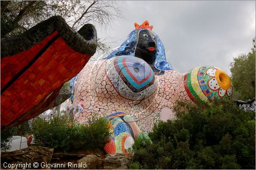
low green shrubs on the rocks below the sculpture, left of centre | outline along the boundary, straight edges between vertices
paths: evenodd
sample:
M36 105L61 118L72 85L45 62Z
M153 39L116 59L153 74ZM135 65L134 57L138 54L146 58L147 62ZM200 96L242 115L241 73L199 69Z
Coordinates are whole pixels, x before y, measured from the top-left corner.
M109 124L104 118L94 118L88 125L70 124L65 116L36 119L32 130L36 144L63 152L102 149L110 135Z

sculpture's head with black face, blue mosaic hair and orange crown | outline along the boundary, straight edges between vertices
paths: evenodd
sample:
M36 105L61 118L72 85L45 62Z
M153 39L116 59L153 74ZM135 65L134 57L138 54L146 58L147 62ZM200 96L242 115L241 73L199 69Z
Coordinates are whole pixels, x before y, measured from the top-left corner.
M142 25L135 23L135 30L132 31L127 39L105 59L111 59L116 56L126 55L135 56L145 60L158 74L164 74L164 70L172 70L170 63L166 61L164 46L156 33L152 31L148 21L144 21ZM145 37L145 38L144 38ZM149 51L145 55L145 51ZM153 60L147 60L152 57Z

